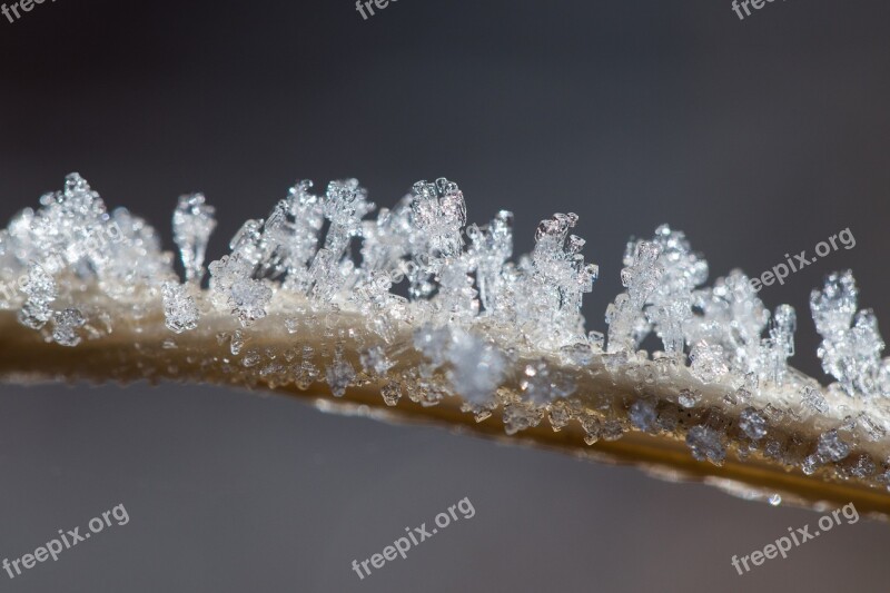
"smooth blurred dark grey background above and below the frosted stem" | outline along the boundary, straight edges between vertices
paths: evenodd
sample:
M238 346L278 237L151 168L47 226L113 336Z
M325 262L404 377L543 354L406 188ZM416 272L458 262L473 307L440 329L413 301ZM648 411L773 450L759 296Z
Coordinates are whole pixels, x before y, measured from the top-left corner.
M9 2L8 2L9 3ZM627 238L686 231L711 278L760 275L849 228L856 246L761 291L799 313L851 267L890 330L890 4L60 0L0 17L0 218L77 170L165 234L205 191L209 257L297 178L357 177L382 206L422 178L468 217L575 211L620 290ZM819 515L629 468L208 387L0 386L0 559L122 503L130 522L2 591L883 591L890 526L861 520L739 576ZM461 520L352 571L468 497ZM83 527L81 527L81 531Z

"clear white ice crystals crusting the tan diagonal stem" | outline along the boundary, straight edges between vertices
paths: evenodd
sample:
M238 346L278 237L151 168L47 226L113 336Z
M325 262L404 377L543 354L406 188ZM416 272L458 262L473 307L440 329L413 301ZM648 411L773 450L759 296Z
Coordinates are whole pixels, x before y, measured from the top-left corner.
M500 409L508 433L544 422L578 423L589 444L666 433L714 464L733 452L890 483L890 358L874 314L857 312L849 271L810 299L835 378L822 387L788 365L794 309L768 310L740 270L709 286L708 263L680 230L627 244L604 335L581 314L599 270L572 234L576 215L541 221L518 258L511 213L466 218L444 178L418 181L392 209L355 179L324 191L299 181L205 266L215 209L187 195L172 216L180 279L149 225L109 213L72 174L0 231L0 309L59 347L119 328L148 340L159 317L165 349L191 348L195 365L233 380L326 383L335 396L376 384L393 406L459 396L478 422ZM208 342L189 336L207 334L221 354L195 348ZM641 350L650 334L661 350Z

